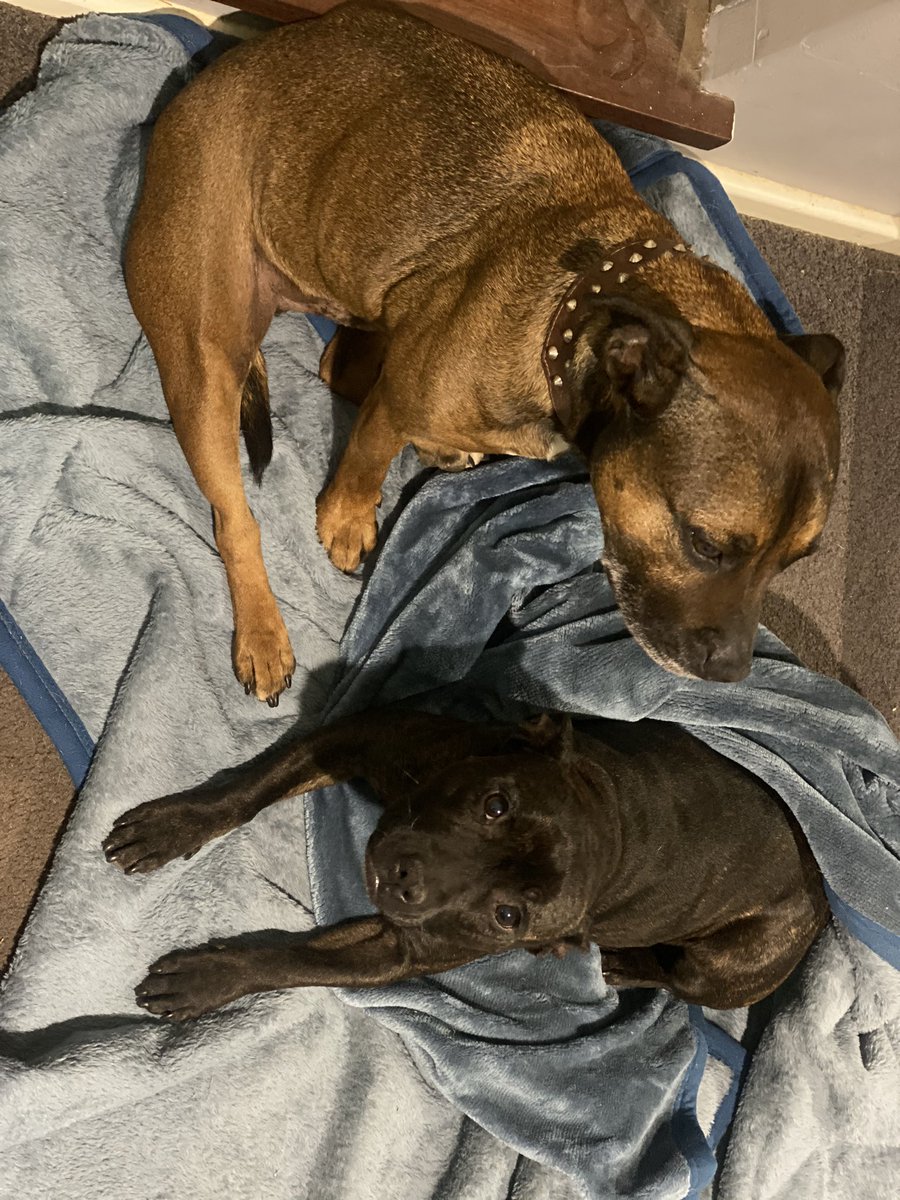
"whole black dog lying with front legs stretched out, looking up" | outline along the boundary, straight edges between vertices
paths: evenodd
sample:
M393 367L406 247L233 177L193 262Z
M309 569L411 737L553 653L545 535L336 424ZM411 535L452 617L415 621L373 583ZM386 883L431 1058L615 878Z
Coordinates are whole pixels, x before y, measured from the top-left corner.
M774 792L655 721L574 732L546 714L516 727L370 713L227 784L132 809L103 848L128 874L152 871L275 800L358 776L385 805L365 865L378 914L168 954L138 986L140 1006L184 1020L247 992L378 985L514 947L594 942L616 988L731 1008L772 992L828 916Z

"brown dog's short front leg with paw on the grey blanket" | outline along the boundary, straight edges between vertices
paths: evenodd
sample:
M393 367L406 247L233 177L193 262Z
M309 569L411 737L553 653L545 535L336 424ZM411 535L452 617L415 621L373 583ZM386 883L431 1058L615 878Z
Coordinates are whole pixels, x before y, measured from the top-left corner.
M391 458L404 438L390 419L385 378L366 397L335 478L316 505L316 528L335 566L353 571L378 536L376 509Z

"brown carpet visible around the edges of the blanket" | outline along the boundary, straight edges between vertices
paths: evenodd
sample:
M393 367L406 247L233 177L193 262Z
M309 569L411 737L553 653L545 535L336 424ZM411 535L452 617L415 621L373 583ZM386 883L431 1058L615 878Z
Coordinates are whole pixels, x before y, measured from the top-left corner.
M54 28L0 4L0 97L30 86ZM764 617L900 733L900 259L766 222L748 227L806 328L841 337L851 364L840 488L822 550L779 578ZM0 672L0 968L71 793L59 756Z

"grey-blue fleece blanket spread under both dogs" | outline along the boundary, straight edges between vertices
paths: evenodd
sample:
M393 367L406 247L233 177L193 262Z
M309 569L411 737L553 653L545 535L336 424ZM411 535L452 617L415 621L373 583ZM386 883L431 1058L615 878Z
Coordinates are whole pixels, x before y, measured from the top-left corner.
M894 1194L896 744L764 631L746 683L656 668L595 565L576 463L420 478L395 503L404 456L359 596L313 534L348 414L316 378L308 323L280 317L264 347L276 450L253 505L298 674L277 710L235 685L209 512L119 264L148 122L187 73L170 32L85 18L0 122L0 590L97 739L0 996L0 1194L676 1200L708 1183L732 1080L704 1067L727 1037L662 992L607 989L595 953L246 997L184 1027L134 1007L173 946L364 911L376 809L355 786L287 802L146 878L104 863L113 818L323 714L409 696L472 716L678 721L778 788L840 920L766 1013L719 1194ZM678 204L683 233L721 250L683 190ZM721 1057L733 1073L739 1055Z

